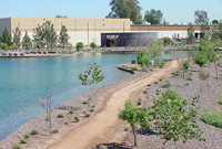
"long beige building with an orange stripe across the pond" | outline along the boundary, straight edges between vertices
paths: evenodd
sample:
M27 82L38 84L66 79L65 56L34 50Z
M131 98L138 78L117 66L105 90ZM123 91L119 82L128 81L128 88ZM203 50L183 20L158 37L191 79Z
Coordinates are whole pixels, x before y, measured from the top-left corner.
M128 32L131 25L130 19L6 18L0 19L0 35L6 28L13 33L18 26L22 35L28 31L28 34L32 38L33 29L48 20L54 24L58 34L61 25L65 25L70 42L73 45L77 42L83 42L88 45L90 42L95 42L100 45L101 33Z

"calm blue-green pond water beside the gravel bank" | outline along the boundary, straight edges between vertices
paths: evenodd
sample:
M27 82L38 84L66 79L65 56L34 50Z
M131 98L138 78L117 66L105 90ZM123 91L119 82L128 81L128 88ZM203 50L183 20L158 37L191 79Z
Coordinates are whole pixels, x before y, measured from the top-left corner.
M167 52L164 58L180 52ZM0 58L0 140L42 113L39 97L47 84L54 84L54 106L83 93L77 74L89 62L102 64L105 79L97 87L117 82L131 74L119 71L118 64L130 62L137 54L82 54L60 57Z

